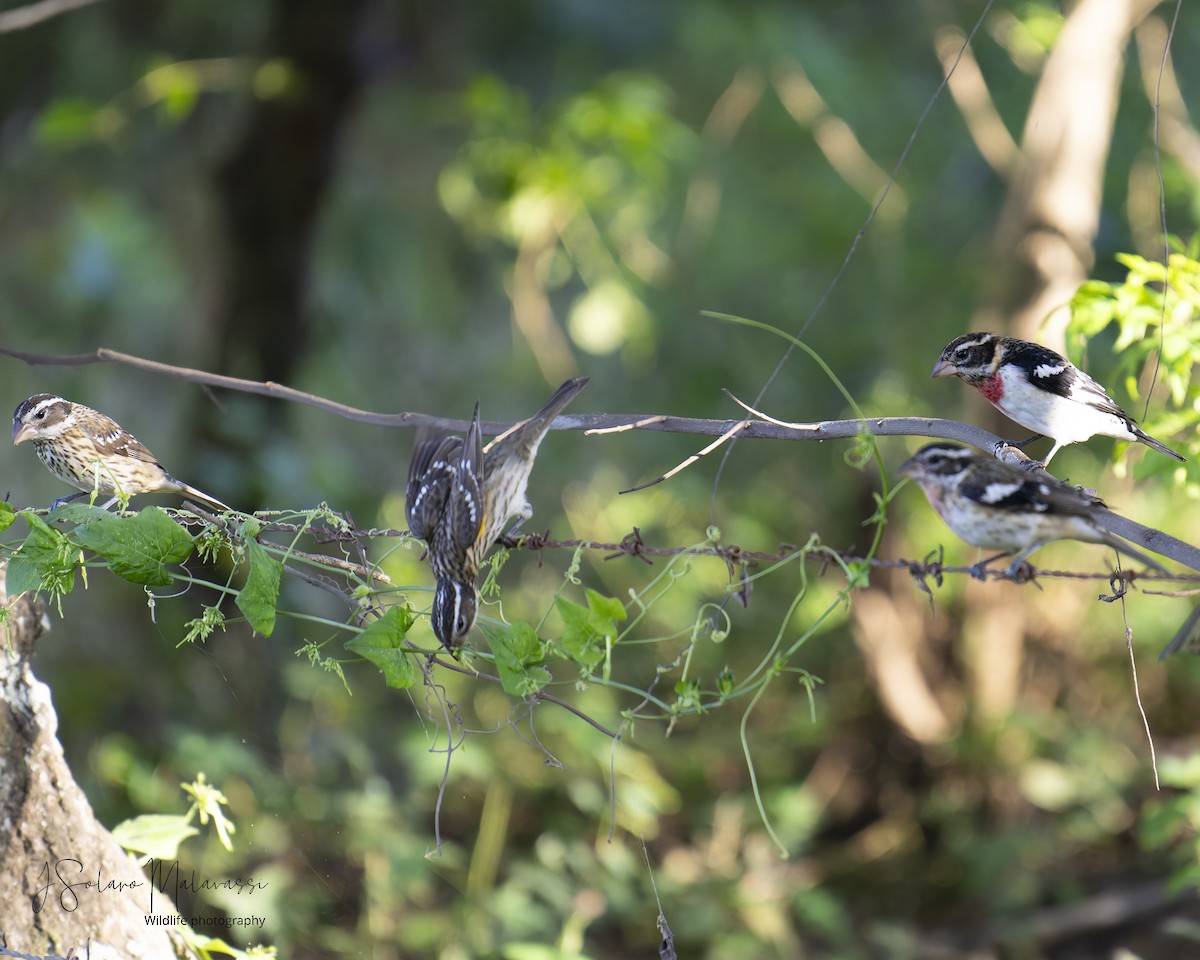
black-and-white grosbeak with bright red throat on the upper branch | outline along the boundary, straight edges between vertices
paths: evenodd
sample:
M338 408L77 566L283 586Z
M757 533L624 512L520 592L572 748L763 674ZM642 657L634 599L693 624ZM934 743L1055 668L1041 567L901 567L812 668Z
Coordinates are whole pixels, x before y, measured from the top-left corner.
M1096 434L1140 440L1176 460L1187 460L1156 440L1112 402L1104 388L1066 356L1039 343L995 334L966 334L950 341L934 365L934 377L958 377L1006 416L1054 440L1058 450Z

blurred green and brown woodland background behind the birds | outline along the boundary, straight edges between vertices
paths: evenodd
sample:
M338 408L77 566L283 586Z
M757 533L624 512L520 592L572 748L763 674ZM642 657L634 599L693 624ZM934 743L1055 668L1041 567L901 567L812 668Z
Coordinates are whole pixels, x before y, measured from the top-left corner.
M925 114L982 14L890 0L103 0L0 34L0 343L110 347L379 412L466 418L479 400L514 420L583 374L574 412L734 418L721 388L754 398L786 344L702 313L718 311L803 328L868 414L1001 430L929 370L973 326L1082 350L1064 305L1088 277L1121 282L1117 253L1162 258L1160 197L1169 233L1190 239L1200 23L1183 5L1160 74L1171 5L998 2ZM1148 380L1126 376L1116 340L1106 329L1084 356L1140 414ZM0 368L10 408L43 391L98 407L244 509L326 502L362 527L404 526L408 432L110 365ZM1152 395L1151 422L1170 400ZM803 353L761 406L850 415ZM1193 433L1164 439L1195 452ZM768 552L816 533L862 553L880 467L890 476L919 442L881 442L865 466L850 444L742 442L720 474L716 452L618 496L704 443L553 433L530 529L612 542L636 526L684 546L715 526ZM1194 540L1195 468L1147 456L1097 439L1055 467ZM0 475L18 506L66 492L26 448ZM977 559L901 491L880 556L942 544L947 562ZM419 547L373 550L424 610ZM538 624L560 588L628 601L667 566L605 556L584 552L581 583L564 586L570 551L514 554L504 616ZM1036 560L1111 563L1084 545ZM906 572L875 571L841 604L836 565L751 572L743 607L724 562L672 566L612 683L558 665L550 689L616 727L638 691L683 696L684 658L712 691L778 637L805 637L752 709L744 696L674 722L643 710L614 749L563 710L541 704L530 725L499 688L444 676L466 731L449 773L432 696L355 662L343 685L298 656L316 641L353 661L331 628L284 618L263 638L234 623L181 646L211 602L198 589L151 613L138 588L92 575L37 666L103 822L181 812L178 785L198 770L223 788L234 852L205 835L181 857L269 888L192 906L265 916L260 938L282 956L653 956L655 889L680 956L1200 952L1200 666L1154 660L1193 601L949 576L930 608ZM313 594L290 582L281 606L335 616ZM724 605L726 636L707 605ZM550 616L545 632L559 629ZM413 637L431 642L424 620Z

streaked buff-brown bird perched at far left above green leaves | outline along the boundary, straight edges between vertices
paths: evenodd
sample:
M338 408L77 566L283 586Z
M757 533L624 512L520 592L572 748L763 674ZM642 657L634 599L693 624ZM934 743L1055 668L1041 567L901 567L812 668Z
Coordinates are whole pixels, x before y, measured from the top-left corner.
M34 442L38 460L59 480L79 488L60 497L54 509L84 493L108 497L108 509L118 494L179 493L229 510L221 500L176 480L138 439L115 420L91 407L52 394L37 394L12 415L13 445Z

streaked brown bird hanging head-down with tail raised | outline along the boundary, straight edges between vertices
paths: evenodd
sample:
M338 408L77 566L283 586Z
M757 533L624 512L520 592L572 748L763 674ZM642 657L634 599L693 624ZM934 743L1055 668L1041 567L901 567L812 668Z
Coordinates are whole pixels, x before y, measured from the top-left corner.
M433 632L454 649L475 624L479 568L510 517L528 520L529 474L542 437L588 383L564 383L545 406L482 446L479 404L466 437L419 438L408 468L404 515L425 541L436 589Z

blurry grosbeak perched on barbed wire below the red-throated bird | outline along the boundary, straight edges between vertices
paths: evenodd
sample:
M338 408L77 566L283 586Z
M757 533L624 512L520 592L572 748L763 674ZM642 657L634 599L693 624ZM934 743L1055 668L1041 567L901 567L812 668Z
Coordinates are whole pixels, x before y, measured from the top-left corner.
M1033 551L1054 540L1106 544L1156 570L1163 566L1097 526L1103 502L1075 487L1037 476L953 443L928 444L910 457L900 473L925 492L946 526L972 546L1016 553L1015 574Z

